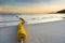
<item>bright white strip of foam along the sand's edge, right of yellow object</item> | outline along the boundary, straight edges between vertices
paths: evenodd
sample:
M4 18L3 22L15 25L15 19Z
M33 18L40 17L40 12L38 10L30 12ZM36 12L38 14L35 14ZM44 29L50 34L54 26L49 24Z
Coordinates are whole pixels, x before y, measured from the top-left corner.
M38 24L38 23L50 23L50 22L57 22L62 20L63 18L50 18L50 19L42 19L42 20L29 20L26 24Z

